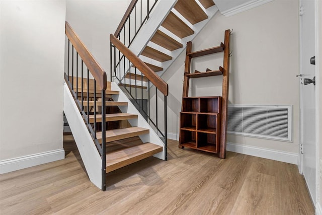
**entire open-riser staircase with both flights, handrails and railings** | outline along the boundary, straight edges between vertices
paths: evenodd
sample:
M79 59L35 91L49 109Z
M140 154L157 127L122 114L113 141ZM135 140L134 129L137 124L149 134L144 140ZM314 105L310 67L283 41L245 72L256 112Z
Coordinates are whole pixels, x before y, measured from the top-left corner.
M149 156L167 160L168 85L160 76L218 11L212 0L147 0L144 7L132 0L110 35L114 82L66 22L64 113L89 178L102 190L106 173Z

